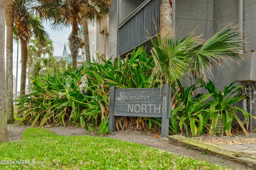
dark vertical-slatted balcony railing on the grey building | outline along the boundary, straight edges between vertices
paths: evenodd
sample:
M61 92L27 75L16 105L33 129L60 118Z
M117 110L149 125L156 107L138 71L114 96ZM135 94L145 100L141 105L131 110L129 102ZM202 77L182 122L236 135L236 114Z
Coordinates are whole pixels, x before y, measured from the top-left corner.
M160 5L161 0L145 0L118 25L118 55L156 36L156 29L159 30L160 26Z

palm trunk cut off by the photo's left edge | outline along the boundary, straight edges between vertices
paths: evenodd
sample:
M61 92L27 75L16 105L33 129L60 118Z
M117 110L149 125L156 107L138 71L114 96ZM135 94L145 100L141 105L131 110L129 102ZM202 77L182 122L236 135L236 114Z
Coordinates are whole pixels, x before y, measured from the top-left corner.
M6 1L0 0L0 35L5 36L5 7ZM0 143L8 142L7 113L6 113L6 76L4 62L4 38L0 39Z

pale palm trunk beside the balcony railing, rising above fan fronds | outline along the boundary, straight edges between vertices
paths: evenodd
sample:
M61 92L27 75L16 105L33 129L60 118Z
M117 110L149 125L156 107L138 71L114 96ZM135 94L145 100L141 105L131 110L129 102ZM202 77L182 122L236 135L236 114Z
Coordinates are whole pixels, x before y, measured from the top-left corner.
M172 8L170 0L162 0L160 7L160 35L165 37L172 31Z

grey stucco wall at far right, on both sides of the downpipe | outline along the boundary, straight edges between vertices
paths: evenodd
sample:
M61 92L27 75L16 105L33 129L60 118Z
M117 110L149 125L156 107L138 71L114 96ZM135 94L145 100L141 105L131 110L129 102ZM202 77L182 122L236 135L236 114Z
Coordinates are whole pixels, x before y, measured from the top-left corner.
M232 23L231 26L238 24L238 2L238 0L214 0L214 33L228 23ZM214 68L216 85L219 89L223 89L226 84L235 80L250 79L250 76L248 76L248 74L250 74L248 70L248 68L250 68L250 51L256 50L255 9L256 4L254 0L244 0L244 39L247 41L244 52L247 54L247 59L246 62L240 61L240 65L229 62L228 64L224 63L221 68Z

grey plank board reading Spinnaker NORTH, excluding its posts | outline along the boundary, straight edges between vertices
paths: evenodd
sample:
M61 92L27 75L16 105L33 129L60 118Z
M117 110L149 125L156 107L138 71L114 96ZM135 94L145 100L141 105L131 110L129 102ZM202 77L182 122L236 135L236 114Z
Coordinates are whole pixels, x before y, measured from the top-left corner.
M114 115L162 117L160 88L115 89Z

